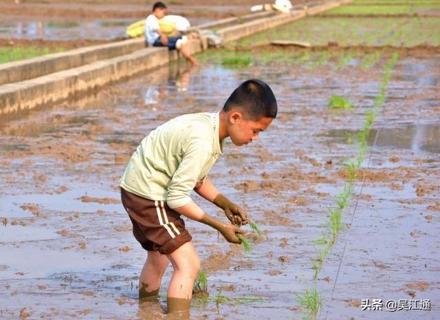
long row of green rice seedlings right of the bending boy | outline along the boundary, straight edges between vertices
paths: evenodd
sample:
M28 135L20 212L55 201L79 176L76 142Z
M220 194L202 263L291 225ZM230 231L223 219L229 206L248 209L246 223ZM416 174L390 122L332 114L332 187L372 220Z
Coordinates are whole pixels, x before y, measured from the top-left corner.
M371 125L373 125L377 115L377 109L382 107L385 101L386 87L388 87L391 71L393 70L395 63L397 63L397 58L398 55L393 54L384 67L384 76L382 77L380 92L375 99L373 110L366 114L364 125L360 131L360 145L357 150L357 155L355 158L349 158L344 162L344 167L349 173L349 181L344 183L344 189L336 197L336 208L329 209L329 231L327 231L321 238L314 240L316 244L325 244L325 247L318 253L318 257L312 261L314 281L318 279L318 273L322 268L322 264L324 263L324 259L327 256L329 249L335 244L340 231L344 229L342 219L343 211L349 205L349 200L354 193L353 183L357 176L357 170L362 166L362 162L364 162L364 158L368 151L366 137L369 135ZM322 309L322 297L320 292L316 289L316 286L314 288L306 288L302 295L296 294L296 297L298 298L301 308L307 312L307 317L313 317L313 319L316 319L316 315Z

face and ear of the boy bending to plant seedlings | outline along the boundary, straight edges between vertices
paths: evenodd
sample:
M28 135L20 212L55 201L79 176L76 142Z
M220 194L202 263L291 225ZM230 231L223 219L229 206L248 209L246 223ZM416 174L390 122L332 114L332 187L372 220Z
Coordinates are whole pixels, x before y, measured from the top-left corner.
M232 111L229 116L228 133L234 145L241 147L259 138L259 133L272 122L272 118L246 120L241 111Z

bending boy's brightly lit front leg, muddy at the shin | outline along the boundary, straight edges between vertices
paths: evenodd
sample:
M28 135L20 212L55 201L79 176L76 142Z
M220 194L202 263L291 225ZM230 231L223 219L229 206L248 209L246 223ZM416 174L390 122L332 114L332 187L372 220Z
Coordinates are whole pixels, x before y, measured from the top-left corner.
M188 310L192 298L192 286L199 273L199 255L192 242L186 242L167 257L174 268L168 287L168 312Z

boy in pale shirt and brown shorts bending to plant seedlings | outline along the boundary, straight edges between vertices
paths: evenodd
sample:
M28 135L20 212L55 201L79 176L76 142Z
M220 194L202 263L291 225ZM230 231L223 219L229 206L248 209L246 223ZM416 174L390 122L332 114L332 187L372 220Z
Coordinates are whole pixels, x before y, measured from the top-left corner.
M239 244L238 226L248 215L225 198L206 177L223 154L230 137L242 146L256 140L276 117L272 89L259 79L237 87L218 113L186 114L163 125L142 140L121 178L121 198L133 222L133 235L148 251L140 274L140 298L154 297L169 262L174 272L168 288L168 312L188 310L199 255L185 229L185 215L217 229L228 242ZM203 212L191 191L219 206L232 222Z

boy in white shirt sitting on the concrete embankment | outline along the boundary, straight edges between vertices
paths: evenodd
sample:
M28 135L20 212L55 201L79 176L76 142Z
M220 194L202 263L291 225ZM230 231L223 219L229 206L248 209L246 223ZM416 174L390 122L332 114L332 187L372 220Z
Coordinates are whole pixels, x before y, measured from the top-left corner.
M195 58L192 58L185 43L188 40L186 36L166 36L159 30L159 19L165 17L166 6L162 2L156 2L153 5L153 12L145 21L145 41L149 46L168 47L169 50L179 50L183 56L192 63L198 65Z

